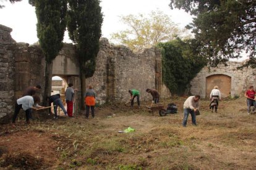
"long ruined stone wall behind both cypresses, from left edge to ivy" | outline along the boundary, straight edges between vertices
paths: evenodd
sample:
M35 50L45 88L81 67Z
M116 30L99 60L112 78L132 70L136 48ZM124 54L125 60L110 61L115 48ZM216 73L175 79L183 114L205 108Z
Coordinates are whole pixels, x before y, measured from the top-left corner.
M45 57L40 47L15 42L11 31L11 28L0 25L0 118L12 115L14 103L22 96L23 89L36 84L42 86L41 94L45 89ZM80 97L80 69L75 52L73 44L64 44L53 61L53 76L73 83L78 89L77 97ZM169 97L168 89L162 84L161 70L158 49L134 54L127 47L114 46L102 38L95 75L86 81L94 87L99 103L126 102L128 90L133 88L140 91L141 100L151 99L145 92L147 88L158 89L162 98Z

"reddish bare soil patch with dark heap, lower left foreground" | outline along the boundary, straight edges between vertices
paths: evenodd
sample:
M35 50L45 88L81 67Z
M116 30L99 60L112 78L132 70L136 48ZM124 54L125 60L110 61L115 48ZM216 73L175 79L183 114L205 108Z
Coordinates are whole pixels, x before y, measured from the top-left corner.
M58 158L55 140L41 130L16 131L0 138L1 166L19 169L45 169L53 166Z

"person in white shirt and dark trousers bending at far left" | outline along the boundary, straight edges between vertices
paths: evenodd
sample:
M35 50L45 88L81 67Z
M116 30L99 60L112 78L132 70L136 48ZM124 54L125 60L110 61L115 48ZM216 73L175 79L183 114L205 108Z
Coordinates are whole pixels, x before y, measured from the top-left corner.
M18 99L17 102L15 103L15 110L14 110L14 116L12 117L12 124L15 123L15 120L19 114L20 108L22 108L25 111L27 124L29 124L30 123L29 115L31 112L31 108L35 110L36 108L43 108L40 105L38 105L38 103L40 103L40 97L38 97L38 95L34 95L33 97L31 95L25 95L20 99ZM34 105L36 105L36 107L34 107Z

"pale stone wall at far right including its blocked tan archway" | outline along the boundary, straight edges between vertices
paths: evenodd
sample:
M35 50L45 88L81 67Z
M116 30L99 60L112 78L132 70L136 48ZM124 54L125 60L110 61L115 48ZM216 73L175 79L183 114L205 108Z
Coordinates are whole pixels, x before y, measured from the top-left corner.
M227 66L204 67L190 82L190 92L209 97L215 85L219 86L223 97L243 96L249 86L256 86L256 69L241 67L244 62L228 62Z

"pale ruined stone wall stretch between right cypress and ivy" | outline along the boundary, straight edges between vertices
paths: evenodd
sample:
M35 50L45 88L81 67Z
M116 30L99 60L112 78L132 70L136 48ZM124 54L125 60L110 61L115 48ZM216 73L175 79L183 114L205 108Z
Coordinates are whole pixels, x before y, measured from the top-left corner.
M147 88L156 88L161 97L169 97L169 91L161 83L161 53L158 49L146 49L134 53L125 46L109 44L101 39L100 52L96 60L96 70L91 84L100 103L127 102L129 89L140 91L140 100L150 100ZM157 71L158 70L158 71Z

